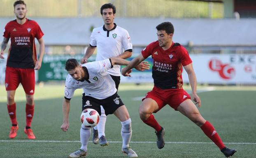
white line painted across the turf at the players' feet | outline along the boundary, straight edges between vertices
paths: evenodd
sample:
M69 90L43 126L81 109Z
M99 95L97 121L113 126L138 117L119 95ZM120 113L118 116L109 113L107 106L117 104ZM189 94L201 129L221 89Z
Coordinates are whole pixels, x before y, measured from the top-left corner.
M64 142L64 143L77 143L80 141L69 141L69 140L0 140L0 142ZM92 142L92 141L89 141ZM110 143L122 143L119 141L108 141ZM130 142L130 143L156 143L156 142ZM213 142L165 142L168 144L214 144ZM224 144L256 144L249 142L224 142Z

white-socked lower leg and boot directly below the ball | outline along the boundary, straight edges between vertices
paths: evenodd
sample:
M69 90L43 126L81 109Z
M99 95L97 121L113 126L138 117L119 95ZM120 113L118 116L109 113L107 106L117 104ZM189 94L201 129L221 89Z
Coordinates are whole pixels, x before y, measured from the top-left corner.
M81 125L81 128L80 128L81 148L78 151L75 151L74 153L70 153L69 155L70 158L79 158L79 157L86 156L87 145L88 145L90 136L91 136L91 128Z

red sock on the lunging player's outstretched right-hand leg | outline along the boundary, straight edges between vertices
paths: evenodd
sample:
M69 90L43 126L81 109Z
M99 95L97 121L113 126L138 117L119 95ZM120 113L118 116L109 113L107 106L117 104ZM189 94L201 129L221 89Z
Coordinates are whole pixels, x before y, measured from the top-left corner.
M201 129L205 133L205 135L207 135L207 137L209 137L212 140L212 142L214 142L219 147L219 149L223 149L225 147L212 124L206 121L205 124L201 126Z

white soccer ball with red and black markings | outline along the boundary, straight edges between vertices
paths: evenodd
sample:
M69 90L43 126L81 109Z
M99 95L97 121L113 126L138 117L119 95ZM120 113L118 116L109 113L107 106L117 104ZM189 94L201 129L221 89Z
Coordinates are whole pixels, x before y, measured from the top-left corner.
M100 121L99 113L94 109L86 109L81 114L81 122L86 127L94 127Z

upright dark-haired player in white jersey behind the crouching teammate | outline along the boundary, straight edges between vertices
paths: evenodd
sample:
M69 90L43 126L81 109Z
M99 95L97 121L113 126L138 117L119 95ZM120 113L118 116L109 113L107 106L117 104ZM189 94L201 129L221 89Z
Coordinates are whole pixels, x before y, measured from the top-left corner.
M114 23L116 7L111 3L102 5L100 14L102 15L104 25L93 29L90 46L88 46L84 57L81 59L81 64L87 62L96 47L96 61L105 60L110 57L126 59L132 55L133 45L128 31ZM116 89L118 89L120 83L120 67L120 65L114 65L114 68L107 71L114 80ZM141 68L149 69L149 64L142 62L135 69L141 70ZM93 128L93 143L98 144L100 142L101 146L106 146L108 145L105 137L105 123L107 117L103 108L101 113L99 124Z

